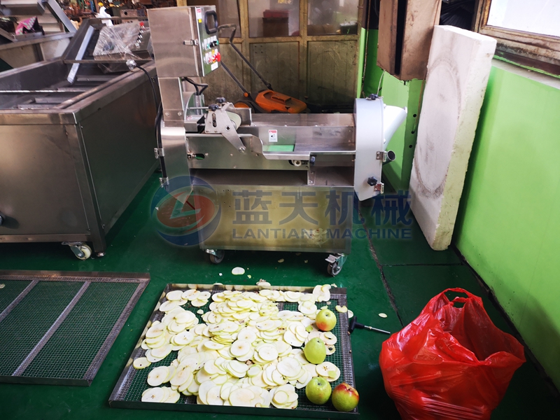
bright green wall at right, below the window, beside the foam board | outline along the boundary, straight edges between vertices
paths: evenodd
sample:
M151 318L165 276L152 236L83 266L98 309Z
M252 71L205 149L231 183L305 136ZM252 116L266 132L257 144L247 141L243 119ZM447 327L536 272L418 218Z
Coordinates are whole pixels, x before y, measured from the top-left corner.
M454 243L560 388L560 89L493 66Z

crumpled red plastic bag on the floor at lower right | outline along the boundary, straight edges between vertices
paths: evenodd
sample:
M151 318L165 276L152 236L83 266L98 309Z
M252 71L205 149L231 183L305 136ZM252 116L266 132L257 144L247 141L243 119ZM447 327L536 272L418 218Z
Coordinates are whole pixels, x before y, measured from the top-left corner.
M449 302L448 291L468 297ZM480 297L461 288L433 297L379 356L385 389L404 420L490 419L524 362L521 343L492 323Z

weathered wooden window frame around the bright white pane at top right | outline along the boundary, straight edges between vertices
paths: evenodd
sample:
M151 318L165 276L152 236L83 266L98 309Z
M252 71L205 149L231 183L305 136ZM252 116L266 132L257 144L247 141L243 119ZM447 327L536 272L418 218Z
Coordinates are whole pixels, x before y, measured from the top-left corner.
M487 25L492 0L478 0L473 30L496 38L496 55L560 74L560 37Z

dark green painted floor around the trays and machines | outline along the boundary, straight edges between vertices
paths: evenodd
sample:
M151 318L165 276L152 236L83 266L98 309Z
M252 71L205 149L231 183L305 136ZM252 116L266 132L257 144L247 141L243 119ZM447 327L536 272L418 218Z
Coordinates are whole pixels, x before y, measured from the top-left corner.
M111 231L104 258L80 261L60 244L0 245L0 269L149 272L151 282L120 332L109 355L89 388L0 384L2 419L214 419L215 414L186 414L152 410L111 409L109 395L137 342L155 302L166 283L246 283L266 279L273 285L313 286L332 283L348 288L349 307L359 321L397 331L419 314L430 297L444 288L463 287L482 295L475 277L461 264L454 251L432 251L414 221L407 228L412 239L383 239L384 228L376 226L371 209L362 209L372 240L354 239L352 253L342 272L326 276L325 255L237 251L226 255L221 265L211 265L198 248L170 246L160 239L150 222L150 203L158 188L154 175ZM379 214L385 222L384 214ZM387 228L389 228L387 222ZM377 230L379 229L379 230ZM284 262L277 262L280 258ZM305 262L307 260L307 263ZM376 261L377 260L377 261ZM233 267L245 267L246 276L233 276ZM220 273L223 275L220 276ZM388 287L388 289L386 288ZM388 293L388 290L390 292ZM393 298L393 304L389 295ZM484 297L493 321L510 331L500 312ZM398 311L395 312L393 307ZM377 316L380 312L388 318ZM384 391L378 358L386 335L356 330L351 336L358 406L362 419L399 419ZM0 355L1 357L1 355ZM225 418L227 416L219 416ZM531 364L514 375L504 400L492 419L560 418L556 400ZM270 417L268 417L270 419Z

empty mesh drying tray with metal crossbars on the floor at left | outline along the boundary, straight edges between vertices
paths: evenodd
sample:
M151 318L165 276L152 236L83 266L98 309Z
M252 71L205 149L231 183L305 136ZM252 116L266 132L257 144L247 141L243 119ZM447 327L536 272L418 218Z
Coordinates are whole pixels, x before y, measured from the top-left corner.
M90 386L150 276L0 271L0 381Z

